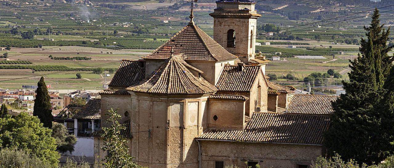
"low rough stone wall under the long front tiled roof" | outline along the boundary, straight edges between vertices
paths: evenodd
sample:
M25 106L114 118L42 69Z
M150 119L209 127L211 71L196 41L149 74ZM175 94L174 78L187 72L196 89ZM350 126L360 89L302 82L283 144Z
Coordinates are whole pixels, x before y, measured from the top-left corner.
M200 141L201 167L215 167L215 161L225 166L243 167L245 161L257 162L262 168L297 168L310 165L322 155L322 146L268 144L248 142Z

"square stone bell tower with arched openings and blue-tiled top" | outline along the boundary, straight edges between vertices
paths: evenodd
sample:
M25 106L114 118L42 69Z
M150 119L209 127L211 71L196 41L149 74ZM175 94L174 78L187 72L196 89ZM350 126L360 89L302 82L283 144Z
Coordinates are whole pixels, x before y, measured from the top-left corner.
M214 40L247 64L255 58L256 21L261 15L252 0L218 0L209 15L214 18Z

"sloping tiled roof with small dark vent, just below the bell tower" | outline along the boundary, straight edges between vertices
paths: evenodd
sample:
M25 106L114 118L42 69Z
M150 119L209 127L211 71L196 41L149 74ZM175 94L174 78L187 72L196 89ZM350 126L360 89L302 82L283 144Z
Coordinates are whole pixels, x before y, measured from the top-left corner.
M238 66L226 64L216 87L220 91L250 91L259 71L260 66L244 66L238 71Z

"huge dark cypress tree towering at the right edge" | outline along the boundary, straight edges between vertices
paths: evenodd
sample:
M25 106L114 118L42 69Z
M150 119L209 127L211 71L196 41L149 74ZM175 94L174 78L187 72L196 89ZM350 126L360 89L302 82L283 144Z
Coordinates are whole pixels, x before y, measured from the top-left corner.
M324 144L329 153L336 152L345 160L372 164L385 159L393 149L392 111L381 110L385 92L392 90L385 83L392 57L387 54L391 48L386 46L390 31L382 29L377 9L371 26L364 29L368 40L361 40L361 55L350 61L349 82L342 81L346 93L333 102Z

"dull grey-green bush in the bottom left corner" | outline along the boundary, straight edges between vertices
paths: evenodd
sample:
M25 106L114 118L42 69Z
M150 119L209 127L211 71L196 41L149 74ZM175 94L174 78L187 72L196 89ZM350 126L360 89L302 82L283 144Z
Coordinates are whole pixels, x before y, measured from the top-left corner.
M26 150L3 148L0 150L0 168L52 168L51 164L31 155Z

